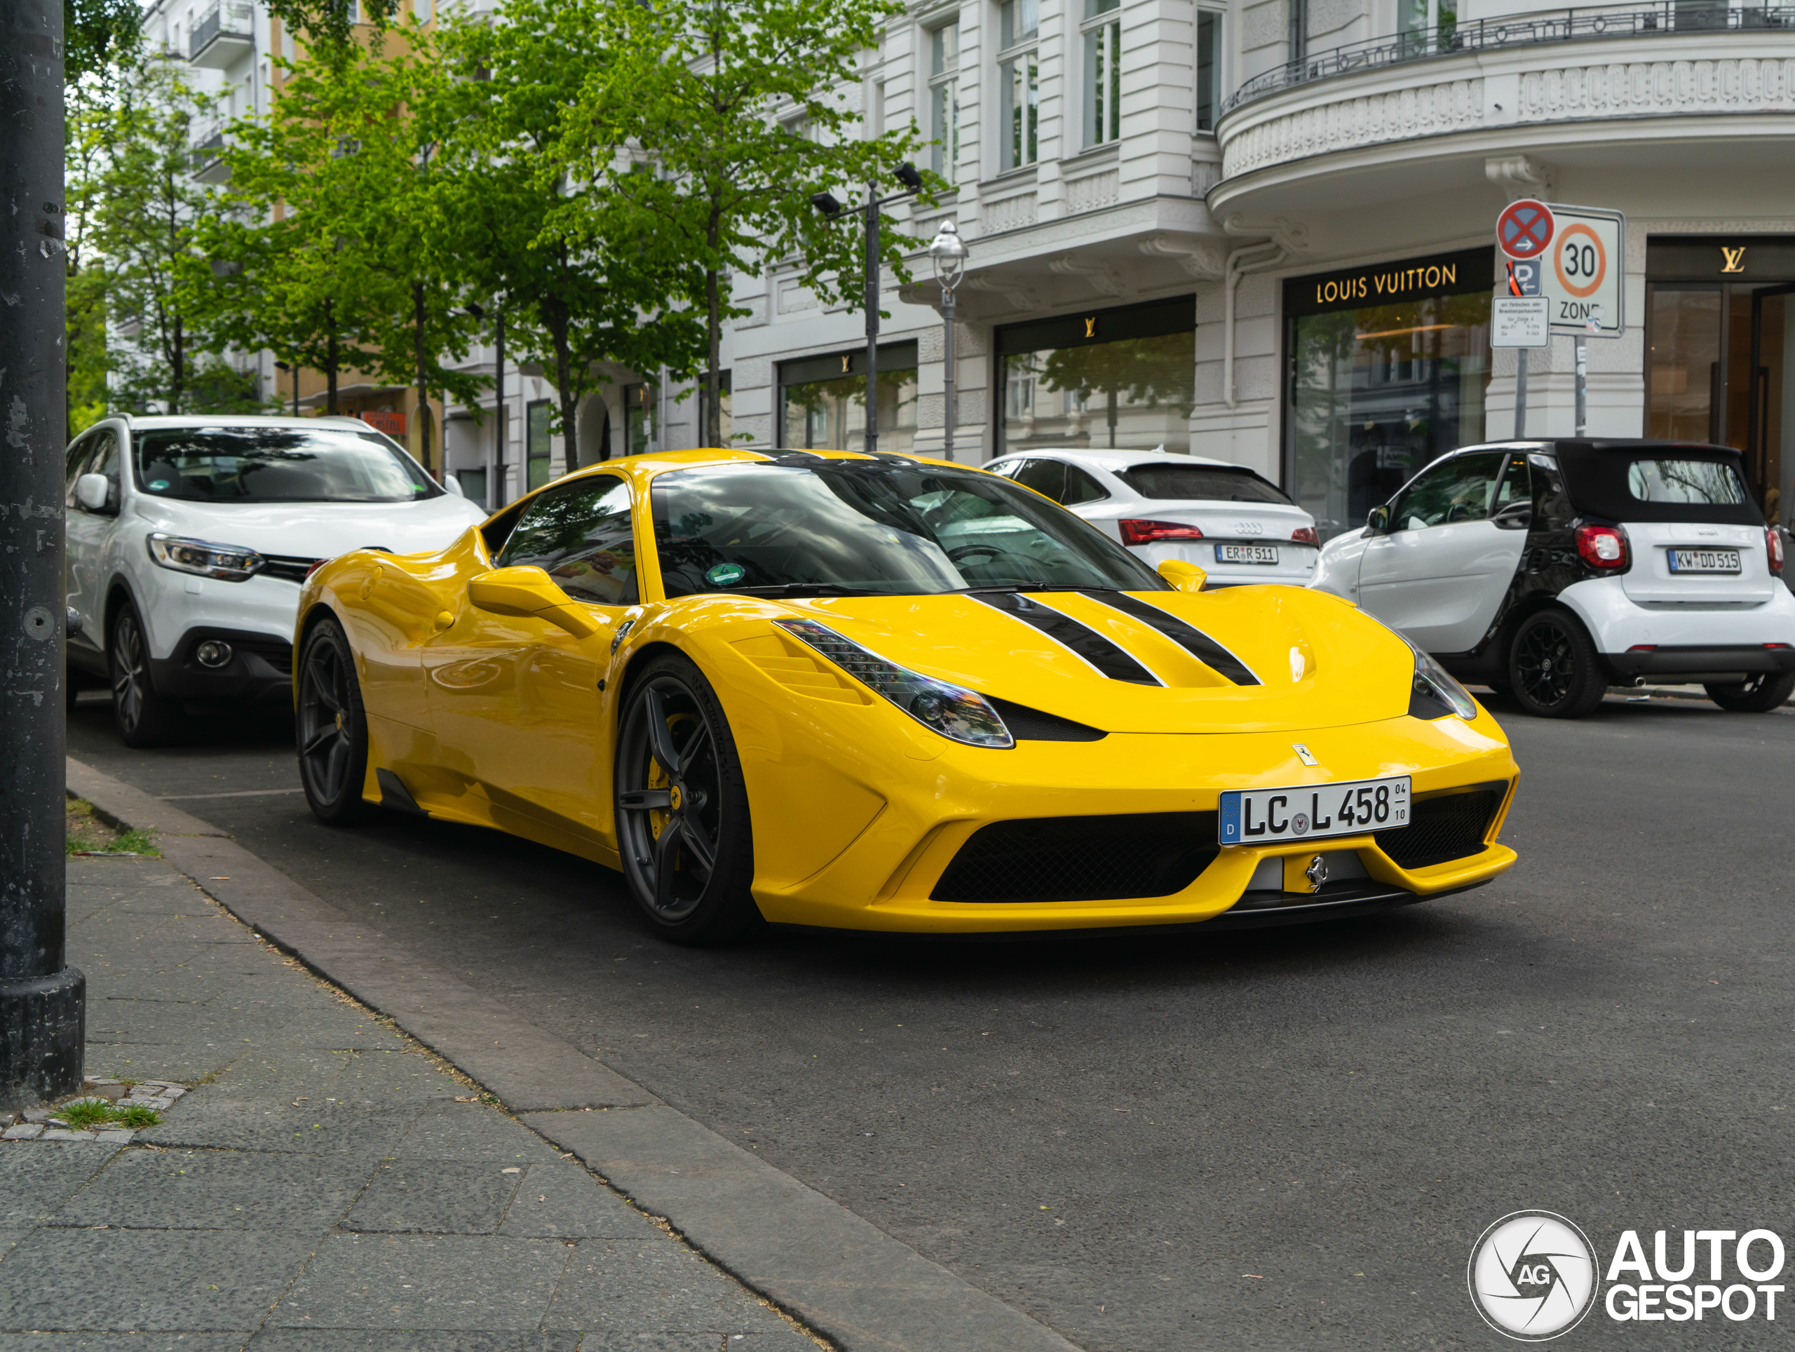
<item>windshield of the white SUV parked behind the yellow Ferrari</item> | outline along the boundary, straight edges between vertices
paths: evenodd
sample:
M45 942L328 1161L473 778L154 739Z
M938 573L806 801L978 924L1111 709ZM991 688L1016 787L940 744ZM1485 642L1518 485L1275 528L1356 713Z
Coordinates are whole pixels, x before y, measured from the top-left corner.
M188 503L411 503L442 492L377 433L350 427L145 427L138 485Z

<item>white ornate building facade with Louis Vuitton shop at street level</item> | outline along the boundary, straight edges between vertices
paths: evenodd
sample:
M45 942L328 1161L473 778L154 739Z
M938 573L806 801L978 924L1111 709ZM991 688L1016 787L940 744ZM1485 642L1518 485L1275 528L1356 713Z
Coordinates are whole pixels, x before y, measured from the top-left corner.
M1120 445L1251 465L1335 533L1434 456L1513 429L1490 348L1493 223L1522 196L1626 214L1624 323L1589 339L1589 433L1747 452L1795 478L1795 7L1648 0L917 4L865 68L955 192L955 458ZM844 224L844 228L851 228ZM926 255L887 309L880 449L939 454ZM740 278L732 422L858 445L863 320L790 269ZM1572 343L1528 433L1572 433ZM695 443L671 408L662 445ZM1790 442L1788 454L1784 443Z

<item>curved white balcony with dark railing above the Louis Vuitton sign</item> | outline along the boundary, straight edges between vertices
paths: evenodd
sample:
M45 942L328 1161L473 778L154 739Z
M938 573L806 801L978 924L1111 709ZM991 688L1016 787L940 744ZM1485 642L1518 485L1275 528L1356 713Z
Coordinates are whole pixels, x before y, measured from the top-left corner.
M1660 0L1467 20L1264 72L1217 129L1219 217L1484 183L1524 154L1605 172L1795 167L1795 5ZM1766 160L1768 156L1768 160Z

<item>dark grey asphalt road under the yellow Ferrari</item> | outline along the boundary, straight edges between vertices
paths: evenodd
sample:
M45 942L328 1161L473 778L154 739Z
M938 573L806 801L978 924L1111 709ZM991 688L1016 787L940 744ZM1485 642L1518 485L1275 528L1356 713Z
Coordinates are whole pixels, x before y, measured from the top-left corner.
M1301 930L723 952L659 944L616 874L553 851L320 826L278 725L131 752L84 704L68 740L1090 1352L1506 1347L1465 1264L1517 1208L1603 1262L1626 1228L1795 1232L1795 715L1497 713L1520 864L1477 892ZM1598 1311L1567 1345L1756 1347L1777 1316Z

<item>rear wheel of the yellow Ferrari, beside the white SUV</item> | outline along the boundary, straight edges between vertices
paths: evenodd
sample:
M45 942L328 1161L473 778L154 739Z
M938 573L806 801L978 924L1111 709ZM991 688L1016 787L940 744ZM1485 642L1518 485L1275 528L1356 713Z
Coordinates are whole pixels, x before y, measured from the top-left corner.
M293 740L305 803L325 826L366 821L372 806L361 786L368 777L368 715L361 706L355 654L336 619L312 625L294 680Z

